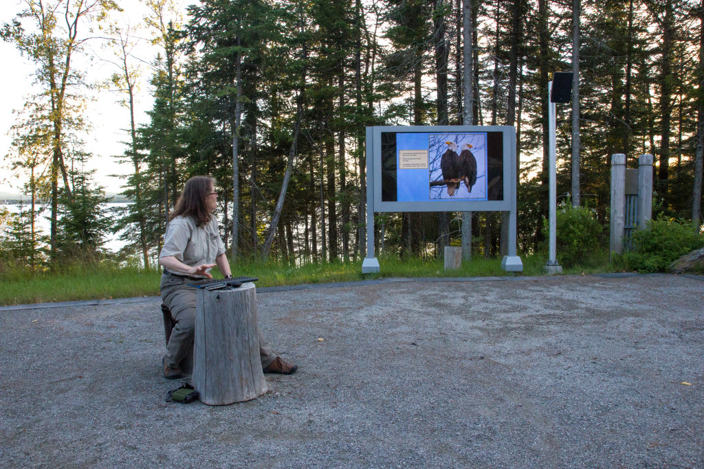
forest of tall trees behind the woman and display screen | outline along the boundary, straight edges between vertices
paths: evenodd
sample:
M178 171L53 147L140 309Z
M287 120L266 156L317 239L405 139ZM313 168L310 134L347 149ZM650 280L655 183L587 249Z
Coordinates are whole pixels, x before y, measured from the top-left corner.
M655 155L655 216L698 228L704 120L704 4L693 0L202 0L178 20L169 0L125 23L113 0L23 0L1 37L36 65L5 165L23 172L27 207L2 214L4 269L44 271L111 257L153 267L184 181L212 174L234 262L356 262L365 252L365 127L514 125L518 247L544 248L547 84L574 71L558 108L558 198L608 226L610 160ZM156 56L141 55L149 31ZM142 33L140 33L142 34ZM110 44L115 75L77 64ZM146 66L148 65L148 66ZM151 75L149 122L134 118ZM130 110L122 195L106 196L86 162L87 90L113 89ZM36 228L49 217L48 234ZM382 255L436 258L445 245L505 252L504 214L377 214ZM106 233L122 230L116 255ZM607 243L608 244L608 243ZM378 251L377 251L378 252ZM466 252L466 251L465 251Z

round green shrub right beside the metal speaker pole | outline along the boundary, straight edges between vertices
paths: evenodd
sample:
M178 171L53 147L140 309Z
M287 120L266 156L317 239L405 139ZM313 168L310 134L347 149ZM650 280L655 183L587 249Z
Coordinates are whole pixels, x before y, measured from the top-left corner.
M550 236L548 219L543 219L543 234ZM565 267L584 263L601 248L603 228L596 214L586 207L572 207L570 200L560 203L556 219L558 262Z

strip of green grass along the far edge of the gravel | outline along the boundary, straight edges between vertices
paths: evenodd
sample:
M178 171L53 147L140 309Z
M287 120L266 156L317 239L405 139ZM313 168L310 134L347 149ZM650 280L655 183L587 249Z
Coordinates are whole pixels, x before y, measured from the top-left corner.
M456 271L444 271L442 260L398 259L380 257L379 274L362 274L362 262L328 262L293 267L286 263L243 260L232 266L234 276L256 276L258 287L330 283L391 277L501 277L545 275L545 254L521 257L523 271L517 274L501 270L501 259L474 257L463 262ZM593 274L620 271L610 264L608 252L594 253L583 265L564 269L564 274ZM217 269L213 276L220 278ZM27 271L5 272L0 276L0 305L61 302L71 300L107 300L159 295L158 269L120 267L111 263L92 266L71 266L58 273L27 274Z

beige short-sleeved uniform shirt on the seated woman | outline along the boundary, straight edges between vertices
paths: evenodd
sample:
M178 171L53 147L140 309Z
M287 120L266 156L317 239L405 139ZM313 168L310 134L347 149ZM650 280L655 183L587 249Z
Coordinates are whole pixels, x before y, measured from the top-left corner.
M223 252L225 252L225 245L222 244L218 221L215 217L204 226L196 226L196 221L192 217L176 217L166 227L164 245L159 257L173 256L187 266L195 267L201 264L214 264L215 257ZM185 275L179 272L171 273Z

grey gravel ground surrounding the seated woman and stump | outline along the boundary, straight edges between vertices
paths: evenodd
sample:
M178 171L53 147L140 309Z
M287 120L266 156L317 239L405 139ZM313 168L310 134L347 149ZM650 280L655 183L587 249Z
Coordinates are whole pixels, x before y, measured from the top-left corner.
M704 467L703 278L469 280L258 290L299 369L230 406L165 400L158 298L4 307L0 466Z

